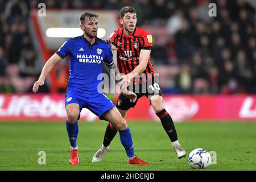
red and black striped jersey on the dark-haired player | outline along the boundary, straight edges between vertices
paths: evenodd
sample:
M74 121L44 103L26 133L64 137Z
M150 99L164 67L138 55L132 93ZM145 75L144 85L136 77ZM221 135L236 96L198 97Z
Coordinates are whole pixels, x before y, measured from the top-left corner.
M138 27L135 28L134 33L131 35L124 34L123 28L119 28L110 35L110 39L112 44L118 48L117 67L119 72L125 75L139 65L141 49L151 49L153 42L152 35ZM149 57L146 69L140 76L134 78L133 83L137 84L139 82L141 84L142 81L146 82L152 76L155 76L155 71Z

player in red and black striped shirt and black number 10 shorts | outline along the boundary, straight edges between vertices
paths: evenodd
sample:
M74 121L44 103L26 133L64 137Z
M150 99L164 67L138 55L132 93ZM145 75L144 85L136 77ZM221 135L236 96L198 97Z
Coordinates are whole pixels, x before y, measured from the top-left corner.
M159 117L164 130L172 142L172 147L179 159L186 155L181 147L175 130L174 122L170 114L163 106L163 93L159 86L159 77L151 64L150 52L152 47L152 35L136 27L136 10L131 6L123 7L119 11L119 23L122 28L115 30L107 42L112 50L117 51L117 66L120 73L125 74L120 82L122 88L132 90L137 94L137 100L131 102L123 93L119 94L117 109L125 118L127 111L137 104L139 98L146 96ZM102 156L109 151L110 142L117 134L117 130L111 123L106 127L104 142L101 148L94 154L92 162L101 162Z

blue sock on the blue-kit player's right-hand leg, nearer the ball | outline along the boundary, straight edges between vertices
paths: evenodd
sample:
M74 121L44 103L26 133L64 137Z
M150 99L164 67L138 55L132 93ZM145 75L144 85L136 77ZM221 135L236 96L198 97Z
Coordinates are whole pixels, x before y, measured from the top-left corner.
M119 131L121 143L125 147L125 151L128 158L134 157L133 140L131 139L131 133L129 127L123 131Z

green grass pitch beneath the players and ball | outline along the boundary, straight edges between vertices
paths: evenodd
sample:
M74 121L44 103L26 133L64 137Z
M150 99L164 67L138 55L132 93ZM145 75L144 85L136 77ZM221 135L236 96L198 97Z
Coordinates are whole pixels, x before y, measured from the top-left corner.
M256 170L256 123L176 123L187 157L178 159L166 132L157 122L129 122L135 155L150 166L127 165L119 134L101 163L92 156L102 144L106 122L79 123L79 166L69 165L65 122L0 122L0 170L200 170L188 164L195 148L217 152L217 164L203 170ZM46 165L38 152L46 152Z

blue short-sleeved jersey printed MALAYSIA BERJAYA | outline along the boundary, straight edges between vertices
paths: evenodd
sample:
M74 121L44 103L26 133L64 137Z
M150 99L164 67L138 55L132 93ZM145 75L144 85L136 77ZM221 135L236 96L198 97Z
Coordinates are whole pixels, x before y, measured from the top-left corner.
M68 39L56 52L61 58L69 55L68 90L95 93L101 82L101 64L112 65L113 53L110 45L96 38L90 44L84 35Z

